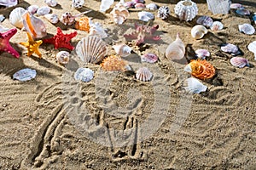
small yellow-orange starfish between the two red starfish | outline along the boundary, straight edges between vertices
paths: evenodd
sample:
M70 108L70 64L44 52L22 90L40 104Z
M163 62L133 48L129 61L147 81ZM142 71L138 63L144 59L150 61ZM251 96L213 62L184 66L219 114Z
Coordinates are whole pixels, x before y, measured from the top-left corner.
M30 57L32 54L38 54L39 59L42 59L42 54L39 51L39 46L43 43L42 40L34 41L32 35L29 32L26 32L28 37L27 42L20 42L20 45L23 45L27 48L27 56Z

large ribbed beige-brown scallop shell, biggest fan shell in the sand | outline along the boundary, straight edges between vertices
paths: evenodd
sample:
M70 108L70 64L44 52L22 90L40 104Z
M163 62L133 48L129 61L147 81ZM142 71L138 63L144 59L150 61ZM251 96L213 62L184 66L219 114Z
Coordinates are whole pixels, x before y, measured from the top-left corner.
M108 54L108 47L102 38L89 36L82 38L76 46L76 54L85 63L96 64Z

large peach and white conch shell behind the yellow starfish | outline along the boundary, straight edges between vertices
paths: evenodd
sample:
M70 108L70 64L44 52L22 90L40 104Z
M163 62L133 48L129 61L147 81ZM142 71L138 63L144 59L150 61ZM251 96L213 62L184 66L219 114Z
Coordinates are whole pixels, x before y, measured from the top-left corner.
M32 34L33 38L41 38L47 35L43 20L29 14L28 11L22 15L22 19L24 28Z

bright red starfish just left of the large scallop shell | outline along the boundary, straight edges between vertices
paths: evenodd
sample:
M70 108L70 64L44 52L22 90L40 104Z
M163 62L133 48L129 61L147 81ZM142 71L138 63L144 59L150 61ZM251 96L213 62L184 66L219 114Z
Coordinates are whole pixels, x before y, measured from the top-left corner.
M70 34L63 34L60 27L57 27L57 33L55 37L51 37L49 39L44 39L43 42L52 43L55 45L55 49L57 48L67 48L73 50L74 47L70 44L70 41L73 37L76 37L78 34L77 31L74 31Z

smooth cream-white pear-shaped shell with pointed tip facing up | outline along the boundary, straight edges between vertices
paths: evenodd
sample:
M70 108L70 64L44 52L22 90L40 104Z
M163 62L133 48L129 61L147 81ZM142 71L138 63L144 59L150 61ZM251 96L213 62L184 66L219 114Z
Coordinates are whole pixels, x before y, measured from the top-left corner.
M176 40L172 42L166 48L166 58L167 59L183 59L185 54L185 45L180 39L179 34L177 33Z

